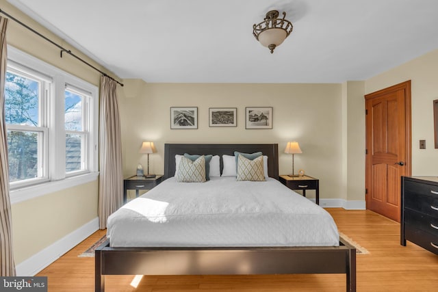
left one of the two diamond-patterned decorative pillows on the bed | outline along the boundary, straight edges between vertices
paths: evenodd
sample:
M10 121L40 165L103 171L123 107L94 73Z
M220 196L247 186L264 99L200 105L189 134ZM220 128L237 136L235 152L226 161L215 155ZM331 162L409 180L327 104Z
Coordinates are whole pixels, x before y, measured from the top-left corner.
M205 157L202 155L195 161L181 157L178 165L177 181L180 183L205 182Z

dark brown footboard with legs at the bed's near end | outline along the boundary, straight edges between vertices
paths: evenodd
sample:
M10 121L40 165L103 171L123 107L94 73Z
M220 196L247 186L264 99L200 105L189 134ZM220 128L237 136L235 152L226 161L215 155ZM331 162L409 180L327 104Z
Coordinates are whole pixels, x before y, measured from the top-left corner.
M346 274L346 291L356 291L356 250L300 248L110 248L96 249L95 291L105 275Z

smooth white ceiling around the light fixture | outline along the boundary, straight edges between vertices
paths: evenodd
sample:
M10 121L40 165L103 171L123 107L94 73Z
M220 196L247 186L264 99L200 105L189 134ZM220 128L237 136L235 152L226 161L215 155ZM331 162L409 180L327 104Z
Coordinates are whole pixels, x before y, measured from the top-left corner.
M438 49L437 0L8 1L118 77L151 83L340 83ZM253 36L272 9L294 25L273 54Z

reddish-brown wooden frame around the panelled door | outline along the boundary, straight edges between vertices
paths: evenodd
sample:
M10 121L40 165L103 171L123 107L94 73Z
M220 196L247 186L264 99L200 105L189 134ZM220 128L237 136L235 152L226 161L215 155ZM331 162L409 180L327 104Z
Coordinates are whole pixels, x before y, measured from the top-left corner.
M377 98L380 97L382 95L385 94L389 94L391 92L396 92L398 90L404 90L404 127L406 128L406 135L404 137L404 147L406 148L405 150L405 157L404 157L404 162L405 162L405 175L406 176L411 176L412 174L412 161L411 161L411 153L412 153L412 137L411 137L411 133L412 133L412 129L411 129L411 125L412 125L412 121L411 121L411 80L408 81L404 81L402 83L398 83L396 85L392 85L389 88L384 88L382 90L378 90L376 92L372 92L370 94L365 94L365 110L366 110L366 101L368 101L369 99L373 99L373 98ZM368 140L370 140L371 134L370 134L370 129L368 129L366 127L366 117L365 117L365 149L368 150L367 145L368 145ZM370 165L370 163L368 163L368 155L371 155L371 152L368 152L367 155L365 156L365 189L372 189L372 186L370 186L370 177L369 177L369 173L370 173L370 168L372 167L372 165ZM401 161L402 159L400 159ZM369 194L367 194L368 192L365 192L365 204L366 204L366 209L368 209L368 205L370 204L369 202ZM400 195L401 196L401 195ZM401 208L401 205L400 205Z

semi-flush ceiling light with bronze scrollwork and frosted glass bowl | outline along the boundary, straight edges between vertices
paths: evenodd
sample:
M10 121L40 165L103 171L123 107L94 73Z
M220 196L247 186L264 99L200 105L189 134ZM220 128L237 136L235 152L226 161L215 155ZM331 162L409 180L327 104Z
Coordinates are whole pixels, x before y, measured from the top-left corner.
M294 28L292 23L285 19L286 12L283 12L283 18L279 17L277 10L271 10L266 13L264 21L258 25L253 25L253 35L263 45L270 49L271 54L278 47Z

